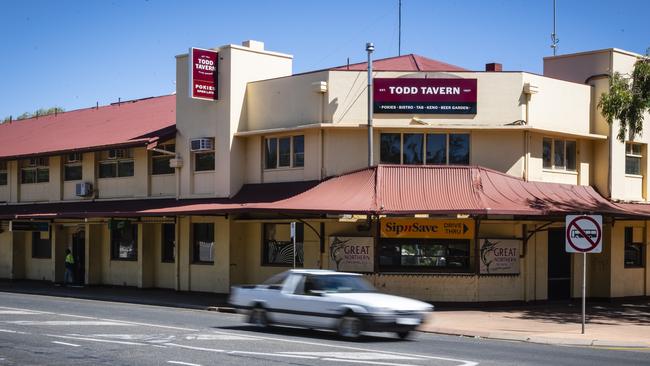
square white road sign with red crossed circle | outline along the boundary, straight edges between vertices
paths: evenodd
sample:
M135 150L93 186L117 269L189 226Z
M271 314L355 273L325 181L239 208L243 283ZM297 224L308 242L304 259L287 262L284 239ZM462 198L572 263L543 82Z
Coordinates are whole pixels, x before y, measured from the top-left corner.
M603 251L603 217L601 215L566 216L567 253Z

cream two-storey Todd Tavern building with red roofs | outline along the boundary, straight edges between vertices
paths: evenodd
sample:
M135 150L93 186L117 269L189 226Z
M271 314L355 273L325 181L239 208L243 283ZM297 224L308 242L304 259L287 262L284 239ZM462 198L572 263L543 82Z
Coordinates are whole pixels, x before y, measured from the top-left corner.
M370 140L367 63L194 49L174 95L0 125L0 278L60 282L70 248L87 285L227 293L295 263L428 301L568 299L565 217L599 214L587 296L648 296L650 138L596 107L639 57L376 60Z

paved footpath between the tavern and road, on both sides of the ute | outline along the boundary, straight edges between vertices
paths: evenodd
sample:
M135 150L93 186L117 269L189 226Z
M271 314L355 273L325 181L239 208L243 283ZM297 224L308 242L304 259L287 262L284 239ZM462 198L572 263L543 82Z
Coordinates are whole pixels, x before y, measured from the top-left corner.
M227 295L122 286L62 287L46 281L0 280L2 292L232 311ZM650 298L588 302L581 334L577 302L508 307L436 308L421 331L544 344L650 350Z

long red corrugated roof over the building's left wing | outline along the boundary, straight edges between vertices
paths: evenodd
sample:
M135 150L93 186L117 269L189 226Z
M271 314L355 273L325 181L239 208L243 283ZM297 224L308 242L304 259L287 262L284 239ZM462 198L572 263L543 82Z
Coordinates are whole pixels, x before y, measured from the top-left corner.
M145 145L175 125L175 95L14 121L0 125L0 158Z

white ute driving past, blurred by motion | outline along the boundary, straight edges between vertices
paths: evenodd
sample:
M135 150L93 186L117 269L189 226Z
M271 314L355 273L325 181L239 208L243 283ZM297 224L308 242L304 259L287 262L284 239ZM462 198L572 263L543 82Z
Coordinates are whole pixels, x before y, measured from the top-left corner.
M344 338L362 331L395 332L404 339L433 306L377 292L359 274L289 270L262 285L233 286L228 302L257 326L334 329Z

